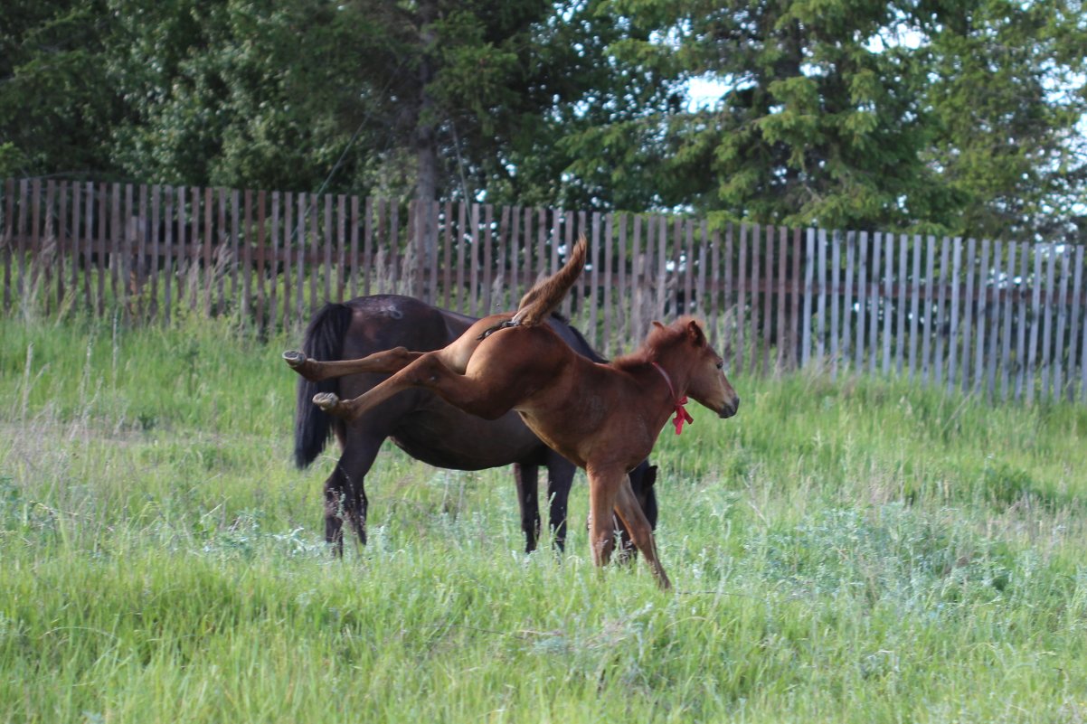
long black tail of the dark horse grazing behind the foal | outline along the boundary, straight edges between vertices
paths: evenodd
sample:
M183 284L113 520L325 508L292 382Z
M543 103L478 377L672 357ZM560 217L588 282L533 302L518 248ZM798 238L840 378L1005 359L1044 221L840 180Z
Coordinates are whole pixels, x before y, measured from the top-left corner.
M347 304L328 303L321 308L305 329L302 351L314 360L338 360L343 348L343 338L351 325L351 308ZM305 467L316 460L328 442L333 426L343 423L313 404L317 392L338 392L339 380L326 379L320 383L298 378L298 405L295 410L295 464Z

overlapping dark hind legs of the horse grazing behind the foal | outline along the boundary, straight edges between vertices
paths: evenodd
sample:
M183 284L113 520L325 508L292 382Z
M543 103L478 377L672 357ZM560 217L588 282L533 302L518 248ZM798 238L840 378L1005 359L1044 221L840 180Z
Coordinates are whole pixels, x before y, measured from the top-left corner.
M370 438L349 433L336 469L325 480L325 540L338 556L343 554L343 519L366 545L366 473L374 464L384 438Z

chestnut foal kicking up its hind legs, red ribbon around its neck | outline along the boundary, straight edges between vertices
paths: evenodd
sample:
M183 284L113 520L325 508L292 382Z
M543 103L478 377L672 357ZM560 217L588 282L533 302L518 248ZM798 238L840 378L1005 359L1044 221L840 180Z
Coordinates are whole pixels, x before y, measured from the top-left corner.
M689 420L683 407L688 395L721 417L736 414L739 397L722 371L724 361L691 319L670 326L654 323L637 352L607 364L574 353L544 324L580 274L585 248L582 238L563 269L525 295L516 313L484 317L440 350L398 348L332 363L298 352L284 358L311 379L396 372L351 400L314 396L314 403L346 421L414 387L434 390L480 417L516 410L540 439L588 473L594 562L603 565L611 557L614 512L666 588L671 584L652 528L627 473L649 455L673 412L677 432L682 420Z

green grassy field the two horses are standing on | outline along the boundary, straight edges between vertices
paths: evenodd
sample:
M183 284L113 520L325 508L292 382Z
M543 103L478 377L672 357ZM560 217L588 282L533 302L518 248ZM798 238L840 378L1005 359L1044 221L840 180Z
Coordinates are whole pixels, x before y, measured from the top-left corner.
M662 592L580 524L521 552L509 471L392 446L333 560L297 336L0 338L0 721L1087 717L1087 409L734 379L737 417L658 445Z

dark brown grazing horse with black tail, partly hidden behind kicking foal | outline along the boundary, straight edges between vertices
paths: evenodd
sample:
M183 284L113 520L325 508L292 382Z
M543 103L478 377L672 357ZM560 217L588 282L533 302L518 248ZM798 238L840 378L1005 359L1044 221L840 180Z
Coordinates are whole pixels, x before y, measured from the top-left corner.
M475 321L411 297L359 297L326 304L318 311L305 332L303 351L316 360L343 360L391 347L435 350L452 342ZM561 317L554 315L548 324L575 351L602 361L582 334ZM357 397L386 377L387 374L357 374L321 383L299 379L295 462L299 467L312 463L324 450L330 432L336 434L341 451L335 470L325 480L324 491L325 539L337 551L342 551L345 516L360 540L366 541L365 478L386 439L412 458L438 467L483 470L512 463L521 527L529 552L536 548L540 532L538 471L540 465L546 466L552 540L559 549L564 547L566 501L577 467L544 445L516 413L484 420L458 410L425 389L404 390L351 423L326 414L312 402L318 392ZM630 479L646 516L655 526L657 469L642 462L632 472ZM625 530L621 529L621 535L624 546L630 549Z

